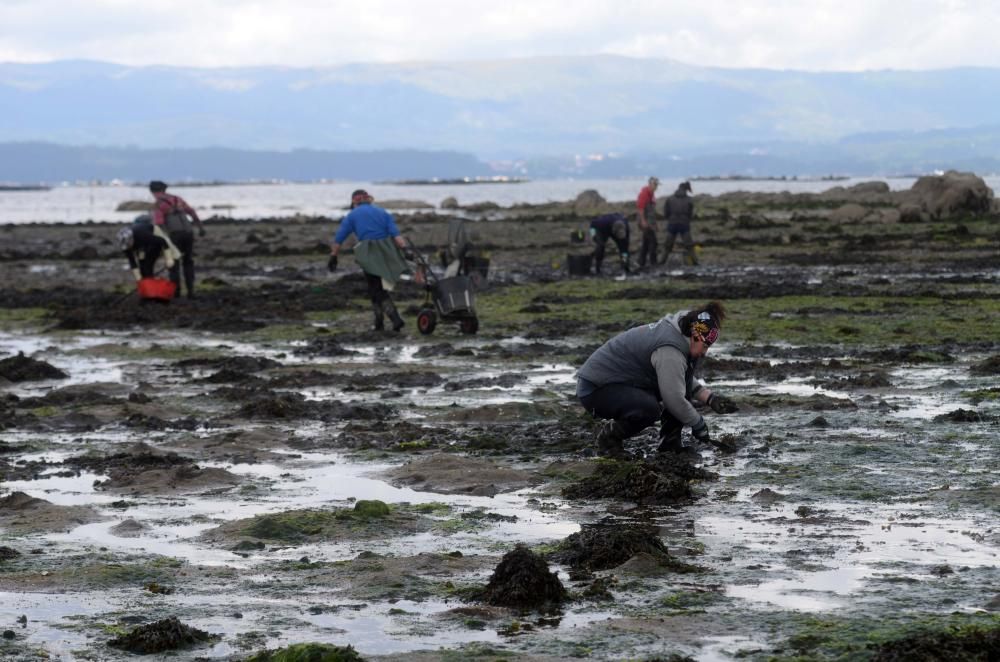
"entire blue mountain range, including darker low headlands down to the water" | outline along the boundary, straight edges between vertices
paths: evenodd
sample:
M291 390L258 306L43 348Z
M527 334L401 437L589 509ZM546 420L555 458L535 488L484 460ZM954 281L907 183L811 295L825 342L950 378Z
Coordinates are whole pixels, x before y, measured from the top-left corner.
M0 63L0 143L47 143L35 154L67 146L78 161L105 150L84 169L126 155L126 168L155 155L164 167L170 151L189 164L197 150L222 148L216 167L255 177L343 177L317 160L339 155L350 170L362 154L384 177L998 171L998 101L1000 68L989 67L830 73L610 55L314 68ZM419 158L390 173L400 154ZM248 160L262 170L235 167ZM17 165L0 179L59 178L16 176ZM224 169L215 176L232 178Z

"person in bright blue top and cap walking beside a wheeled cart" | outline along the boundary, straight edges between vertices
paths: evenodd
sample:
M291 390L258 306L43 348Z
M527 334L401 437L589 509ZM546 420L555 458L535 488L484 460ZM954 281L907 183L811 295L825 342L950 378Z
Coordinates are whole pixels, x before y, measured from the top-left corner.
M337 270L340 247L352 234L357 237L354 257L365 274L368 296L375 314L376 331L385 328L385 318L392 322L392 330L399 331L406 322L399 316L392 302L391 292L400 275L410 271L403 252L406 242L399 234L392 214L372 204L373 198L364 189L351 194L351 211L340 221L340 227L330 245L327 269Z

